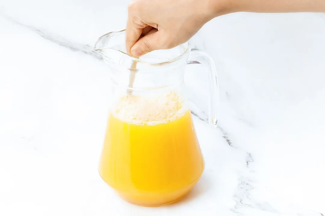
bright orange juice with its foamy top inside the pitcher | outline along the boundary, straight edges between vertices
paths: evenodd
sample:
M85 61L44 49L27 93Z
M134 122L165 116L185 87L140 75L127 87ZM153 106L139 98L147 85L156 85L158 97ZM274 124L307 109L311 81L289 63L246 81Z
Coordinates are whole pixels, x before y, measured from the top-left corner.
M134 204L180 199L204 170L190 111L175 92L126 95L111 110L99 173Z

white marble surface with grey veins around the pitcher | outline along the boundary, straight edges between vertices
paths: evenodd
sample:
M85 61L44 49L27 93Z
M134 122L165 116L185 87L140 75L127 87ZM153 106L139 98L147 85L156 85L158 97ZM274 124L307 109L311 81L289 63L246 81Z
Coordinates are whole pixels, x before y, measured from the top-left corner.
M219 127L188 73L206 161L188 198L126 203L97 173L110 98L96 39L127 1L0 1L0 215L325 215L325 15L218 17L192 44L217 65Z

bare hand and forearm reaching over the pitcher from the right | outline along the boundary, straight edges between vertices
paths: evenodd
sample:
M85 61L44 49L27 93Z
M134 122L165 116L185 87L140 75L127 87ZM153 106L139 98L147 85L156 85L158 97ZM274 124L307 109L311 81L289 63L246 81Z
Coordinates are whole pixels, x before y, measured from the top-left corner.
M214 17L234 12L325 12L325 0L133 0L126 50L138 58L188 41Z

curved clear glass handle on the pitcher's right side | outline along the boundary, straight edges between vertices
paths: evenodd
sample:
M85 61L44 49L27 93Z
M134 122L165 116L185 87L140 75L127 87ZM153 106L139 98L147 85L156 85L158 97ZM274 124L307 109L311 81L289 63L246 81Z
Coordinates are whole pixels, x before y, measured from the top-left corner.
M219 116L219 86L213 59L204 51L191 49L187 64L202 64L210 80L209 124L216 127Z

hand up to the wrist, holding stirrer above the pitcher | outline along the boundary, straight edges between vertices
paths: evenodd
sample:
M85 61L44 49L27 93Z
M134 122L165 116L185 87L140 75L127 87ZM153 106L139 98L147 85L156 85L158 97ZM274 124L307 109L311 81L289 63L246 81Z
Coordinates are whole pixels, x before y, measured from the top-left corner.
M223 10L219 0L218 10ZM188 41L215 17L214 0L134 0L128 7L126 50L139 57ZM139 39L140 38L140 39Z

